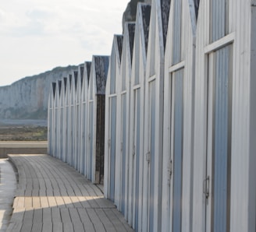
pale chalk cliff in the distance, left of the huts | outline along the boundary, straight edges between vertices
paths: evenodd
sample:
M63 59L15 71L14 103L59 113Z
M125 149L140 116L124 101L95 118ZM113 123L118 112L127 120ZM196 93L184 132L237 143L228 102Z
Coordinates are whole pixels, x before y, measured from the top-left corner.
M58 67L0 87L0 119L47 119L50 84L76 69Z

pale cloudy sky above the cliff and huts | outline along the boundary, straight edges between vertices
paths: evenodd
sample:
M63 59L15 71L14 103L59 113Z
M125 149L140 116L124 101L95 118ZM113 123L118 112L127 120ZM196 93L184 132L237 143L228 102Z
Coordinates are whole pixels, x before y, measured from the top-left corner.
M130 0L0 0L0 86L110 55Z

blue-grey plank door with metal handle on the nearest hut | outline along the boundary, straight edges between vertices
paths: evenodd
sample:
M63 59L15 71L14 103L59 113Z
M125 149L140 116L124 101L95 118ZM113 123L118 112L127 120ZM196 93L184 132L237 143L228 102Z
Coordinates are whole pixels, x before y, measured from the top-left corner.
M232 135L232 45L208 54L206 231L229 231Z

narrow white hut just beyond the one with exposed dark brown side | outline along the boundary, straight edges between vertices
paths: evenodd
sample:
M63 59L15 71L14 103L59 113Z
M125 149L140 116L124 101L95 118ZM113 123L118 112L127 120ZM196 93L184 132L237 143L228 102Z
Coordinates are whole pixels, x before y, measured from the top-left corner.
M81 90L81 124L80 124L80 172L86 175L87 153L87 97L88 83L91 72L91 62L84 62L84 78Z

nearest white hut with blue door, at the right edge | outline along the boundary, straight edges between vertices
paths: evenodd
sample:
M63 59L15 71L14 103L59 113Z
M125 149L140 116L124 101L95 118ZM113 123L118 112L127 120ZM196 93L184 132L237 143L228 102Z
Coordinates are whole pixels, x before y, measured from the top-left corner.
M255 231L255 5L200 3L193 231Z

